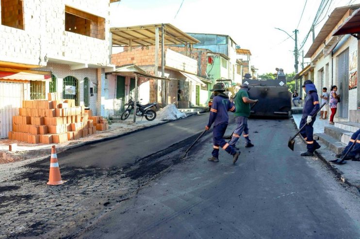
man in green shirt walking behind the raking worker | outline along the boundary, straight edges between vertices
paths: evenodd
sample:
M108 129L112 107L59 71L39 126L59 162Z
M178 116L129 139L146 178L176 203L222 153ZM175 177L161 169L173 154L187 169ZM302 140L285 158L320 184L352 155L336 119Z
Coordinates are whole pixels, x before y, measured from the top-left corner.
M239 148L235 147L236 142L239 140L240 135L243 134L246 140L245 147L253 147L254 145L251 143L249 139L249 129L247 128L247 118L250 116L250 104L257 103L259 100L250 100L247 91L249 87L247 84L243 83L241 85L241 89L235 95L235 122L237 123L236 129L232 134L232 138L229 141L229 145L232 148L239 150Z

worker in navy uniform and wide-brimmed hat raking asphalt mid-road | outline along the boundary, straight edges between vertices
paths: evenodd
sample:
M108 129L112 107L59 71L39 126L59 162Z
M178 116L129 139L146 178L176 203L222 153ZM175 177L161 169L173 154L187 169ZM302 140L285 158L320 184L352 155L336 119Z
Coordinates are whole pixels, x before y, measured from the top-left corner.
M208 160L213 162L219 162L219 149L220 147L227 151L233 156L232 163L236 163L239 158L240 152L233 149L226 141L223 139L226 128L229 124L229 115L228 111L235 112L235 105L229 101L229 96L224 94L224 88L220 84L215 84L213 86L214 98L213 105L210 109L210 118L208 124L205 126L205 130L209 130L212 124L213 128L213 152L212 157Z

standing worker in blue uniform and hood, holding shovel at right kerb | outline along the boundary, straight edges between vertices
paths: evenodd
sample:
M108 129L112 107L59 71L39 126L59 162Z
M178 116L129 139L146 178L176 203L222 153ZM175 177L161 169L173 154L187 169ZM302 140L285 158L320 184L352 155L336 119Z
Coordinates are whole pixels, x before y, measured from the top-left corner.
M304 129L300 132L301 136L304 137L307 149L305 153L302 153L301 156L313 156L314 151L316 149L320 149L320 145L314 140L313 138L313 125L315 122L316 117L311 118L315 112L320 108L319 104L319 97L317 95L317 90L315 85L312 84L311 80L306 80L304 85L302 86L305 88L305 92L308 94L305 98L304 107L303 107L303 114L300 121L300 128L306 124Z

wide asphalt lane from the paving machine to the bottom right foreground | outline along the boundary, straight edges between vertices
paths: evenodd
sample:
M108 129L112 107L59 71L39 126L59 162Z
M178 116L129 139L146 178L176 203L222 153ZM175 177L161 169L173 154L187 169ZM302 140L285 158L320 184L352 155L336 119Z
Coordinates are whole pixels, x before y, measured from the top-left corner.
M294 152L288 149L294 132L290 120L251 120L250 138L256 147L239 144L242 154L235 165L224 151L219 163L206 160L212 150L207 134L190 158L79 236L360 238L360 198L317 158L299 156L305 150L300 140ZM149 135L151 140L158 136Z

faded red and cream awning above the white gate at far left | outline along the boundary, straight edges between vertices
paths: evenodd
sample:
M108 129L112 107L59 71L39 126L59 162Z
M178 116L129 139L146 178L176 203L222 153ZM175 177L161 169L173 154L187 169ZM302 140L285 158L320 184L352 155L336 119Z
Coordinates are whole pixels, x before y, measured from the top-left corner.
M0 79L5 80L39 80L39 81L51 81L51 74L49 72L44 72L38 74L39 71L19 71L19 72L10 72L10 71L0 71Z

